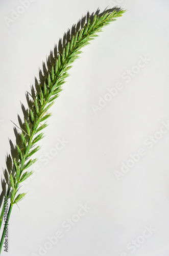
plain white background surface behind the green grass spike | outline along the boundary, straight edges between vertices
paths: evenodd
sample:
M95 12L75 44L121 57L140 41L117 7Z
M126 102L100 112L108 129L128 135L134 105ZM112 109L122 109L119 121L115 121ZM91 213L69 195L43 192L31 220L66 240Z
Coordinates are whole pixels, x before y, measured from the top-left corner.
M40 141L40 172L22 188L28 194L19 208L13 207L9 252L2 255L42 255L39 245L47 246L47 237L58 230L62 238L43 255L169 255L169 131L163 129L166 133L152 148L145 142L160 136L162 122L169 120L167 0L35 0L9 26L4 18L21 3L1 1L1 165L6 167L5 155L10 153L8 138L15 142L10 120L18 123L20 101L26 104L25 92L42 60L88 10L114 5L128 11L83 48L70 70ZM136 68L140 56L149 61ZM138 71L129 82L124 78L127 70ZM117 82L123 89L94 114L92 105ZM63 138L67 143L51 156ZM139 148L144 156L117 180L115 170L120 172L122 162L129 163ZM62 223L85 204L88 212L66 231ZM154 231L140 238L146 226ZM132 253L127 244L136 239L142 244Z

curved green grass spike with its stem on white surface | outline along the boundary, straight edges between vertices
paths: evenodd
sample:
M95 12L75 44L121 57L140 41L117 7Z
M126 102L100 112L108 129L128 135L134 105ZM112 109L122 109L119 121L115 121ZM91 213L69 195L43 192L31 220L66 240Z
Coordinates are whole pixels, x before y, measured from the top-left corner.
M97 32L102 31L102 28L110 22L122 16L125 10L114 7L100 13L98 9L95 13L82 17L82 19L68 30L63 37L63 43L59 41L58 50L54 49L54 56L51 55L48 59L47 67L43 66L43 75L40 82L35 80L35 88L32 87L32 95L27 94L29 108L25 113L25 119L20 124L21 132L18 133L21 144L16 143L15 150L17 157L12 156L13 172L9 174L9 186L6 197L10 198L10 207L6 225L8 224L11 210L14 204L17 204L25 197L25 193L18 194L20 183L30 177L33 172L27 171L37 159L30 159L36 153L40 146L36 143L44 137L41 132L46 126L46 119L51 116L49 113L50 107L54 104L55 99L62 91L62 84L68 76L67 71L81 53L80 49L89 44L89 41L94 39ZM31 99L30 99L31 96ZM26 115L27 114L27 115ZM0 217L0 225L4 216L4 205ZM5 230L5 229L4 229ZM4 241L4 232L0 243L0 252Z

